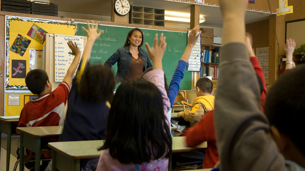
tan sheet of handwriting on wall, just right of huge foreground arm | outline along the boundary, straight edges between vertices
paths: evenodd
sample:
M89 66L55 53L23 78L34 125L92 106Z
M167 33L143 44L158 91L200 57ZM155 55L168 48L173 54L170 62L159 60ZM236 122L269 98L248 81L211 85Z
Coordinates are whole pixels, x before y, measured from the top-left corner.
M269 47L266 48L256 48L256 56L262 67L265 83L269 83Z

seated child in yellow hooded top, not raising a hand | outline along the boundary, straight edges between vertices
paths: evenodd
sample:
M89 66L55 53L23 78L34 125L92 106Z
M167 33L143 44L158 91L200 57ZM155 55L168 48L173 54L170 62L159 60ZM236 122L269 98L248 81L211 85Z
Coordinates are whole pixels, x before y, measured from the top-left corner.
M214 96L211 96L213 92L213 83L208 78L200 78L196 83L196 95L192 110L185 110L177 113L177 115L183 117L186 121L190 121L191 126L194 126L203 115L208 111L214 109Z

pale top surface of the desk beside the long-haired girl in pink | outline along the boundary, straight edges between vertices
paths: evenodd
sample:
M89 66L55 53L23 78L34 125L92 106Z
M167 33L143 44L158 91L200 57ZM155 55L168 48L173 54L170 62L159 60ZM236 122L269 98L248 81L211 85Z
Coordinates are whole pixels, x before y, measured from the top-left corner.
M48 146L72 159L99 158L105 140L53 142Z

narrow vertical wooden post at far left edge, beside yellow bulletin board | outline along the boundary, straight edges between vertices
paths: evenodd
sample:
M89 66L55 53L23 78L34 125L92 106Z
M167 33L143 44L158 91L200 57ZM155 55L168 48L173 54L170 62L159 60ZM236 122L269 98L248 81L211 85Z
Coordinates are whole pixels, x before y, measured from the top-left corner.
M4 98L5 98L5 15L0 15L0 116L4 116Z

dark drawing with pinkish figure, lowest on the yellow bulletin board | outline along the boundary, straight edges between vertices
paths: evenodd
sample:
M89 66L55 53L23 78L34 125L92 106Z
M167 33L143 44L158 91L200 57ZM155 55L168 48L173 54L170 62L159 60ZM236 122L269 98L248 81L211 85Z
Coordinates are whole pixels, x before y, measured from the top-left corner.
M12 60L12 78L25 78L26 60Z

